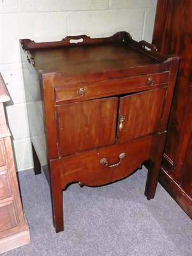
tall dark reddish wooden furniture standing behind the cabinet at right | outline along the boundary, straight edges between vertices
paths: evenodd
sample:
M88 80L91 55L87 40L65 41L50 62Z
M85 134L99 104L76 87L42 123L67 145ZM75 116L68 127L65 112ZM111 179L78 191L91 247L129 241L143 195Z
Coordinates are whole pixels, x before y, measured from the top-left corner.
M192 1L159 0L152 42L181 58L159 181L192 218Z

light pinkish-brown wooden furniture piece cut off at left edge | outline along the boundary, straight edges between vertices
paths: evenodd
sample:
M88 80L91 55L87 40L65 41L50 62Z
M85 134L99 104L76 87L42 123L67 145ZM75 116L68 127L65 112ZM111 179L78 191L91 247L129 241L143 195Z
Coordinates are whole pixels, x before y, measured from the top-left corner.
M0 74L0 253L30 243L20 193L10 131L6 124L3 103L10 100Z

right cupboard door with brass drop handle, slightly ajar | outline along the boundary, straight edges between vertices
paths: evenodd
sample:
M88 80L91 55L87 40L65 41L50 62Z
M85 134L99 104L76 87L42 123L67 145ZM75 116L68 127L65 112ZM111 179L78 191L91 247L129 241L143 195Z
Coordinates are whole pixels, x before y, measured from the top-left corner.
M159 131L166 87L121 97L118 143Z

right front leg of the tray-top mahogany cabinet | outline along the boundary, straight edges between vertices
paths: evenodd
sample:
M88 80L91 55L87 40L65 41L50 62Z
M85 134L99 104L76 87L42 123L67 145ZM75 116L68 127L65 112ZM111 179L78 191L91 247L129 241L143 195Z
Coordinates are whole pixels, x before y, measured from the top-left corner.
M154 143L154 145L158 146L155 148L152 147L151 150L151 159L148 166L147 182L145 186L145 196L147 196L148 200L154 198L156 188L158 186L159 172L161 168L163 150L165 147L165 138L166 132L159 134L158 139L156 139L158 140L158 143L157 141Z

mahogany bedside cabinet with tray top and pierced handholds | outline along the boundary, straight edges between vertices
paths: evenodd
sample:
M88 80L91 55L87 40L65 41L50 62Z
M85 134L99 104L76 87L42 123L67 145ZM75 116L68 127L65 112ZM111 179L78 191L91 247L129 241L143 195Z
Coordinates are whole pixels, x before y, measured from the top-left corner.
M126 32L20 44L27 95L38 102L41 88L56 232L71 182L109 184L149 163L145 195L153 198L179 58Z

